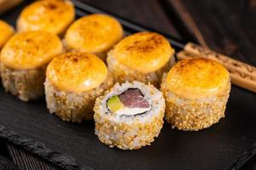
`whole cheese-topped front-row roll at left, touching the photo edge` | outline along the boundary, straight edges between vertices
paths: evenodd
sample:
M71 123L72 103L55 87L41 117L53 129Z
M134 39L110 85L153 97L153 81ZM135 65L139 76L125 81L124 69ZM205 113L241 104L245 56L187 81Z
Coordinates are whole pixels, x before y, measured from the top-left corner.
M44 94L46 65L62 52L59 37L46 31L15 34L1 52L3 88L19 99L38 99Z

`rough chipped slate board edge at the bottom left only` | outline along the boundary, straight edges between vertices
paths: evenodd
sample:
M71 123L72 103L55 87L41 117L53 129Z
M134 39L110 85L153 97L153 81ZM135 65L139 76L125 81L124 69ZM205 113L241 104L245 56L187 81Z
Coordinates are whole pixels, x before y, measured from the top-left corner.
M15 131L9 130L7 127L0 125L0 138L7 139L9 142L19 145L25 150L32 152L37 156L44 158L47 161L54 163L56 166L68 170L92 170L92 167L79 166L75 163L73 156L61 154L58 151L50 150L44 143L35 141L30 138L20 136Z

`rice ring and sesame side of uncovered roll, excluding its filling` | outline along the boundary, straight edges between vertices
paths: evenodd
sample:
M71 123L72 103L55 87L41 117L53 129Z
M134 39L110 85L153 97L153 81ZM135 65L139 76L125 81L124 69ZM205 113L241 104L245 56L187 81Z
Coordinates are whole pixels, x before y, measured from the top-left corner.
M138 115L117 115L108 110L108 99L129 88L137 88L148 99L151 109ZM161 92L143 82L116 83L103 96L96 99L94 107L95 133L102 143L123 150L139 149L158 137L164 123L166 105Z

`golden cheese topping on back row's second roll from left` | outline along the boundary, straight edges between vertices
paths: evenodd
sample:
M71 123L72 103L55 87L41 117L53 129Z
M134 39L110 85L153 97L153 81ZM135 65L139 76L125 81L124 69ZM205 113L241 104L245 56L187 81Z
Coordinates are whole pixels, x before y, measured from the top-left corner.
M118 20L104 14L90 14L75 21L67 30L68 48L85 53L101 53L123 37Z

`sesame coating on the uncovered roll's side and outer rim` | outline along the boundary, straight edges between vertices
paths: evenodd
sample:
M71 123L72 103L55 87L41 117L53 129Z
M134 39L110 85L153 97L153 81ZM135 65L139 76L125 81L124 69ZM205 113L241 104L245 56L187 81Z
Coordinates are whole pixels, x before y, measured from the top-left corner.
M131 82L132 83L132 82ZM102 99L108 93L112 93L114 88L111 88L105 94L96 99L94 107L94 120L96 122L95 133L103 144L109 147L118 147L122 150L137 150L145 145L150 145L157 138L160 129L164 124L165 102L162 94L160 99L154 101L155 107L160 107L157 112L154 112L147 121L143 121L140 116L131 116L128 119L116 119L111 115L102 112ZM150 85L149 93L154 95L155 89Z

